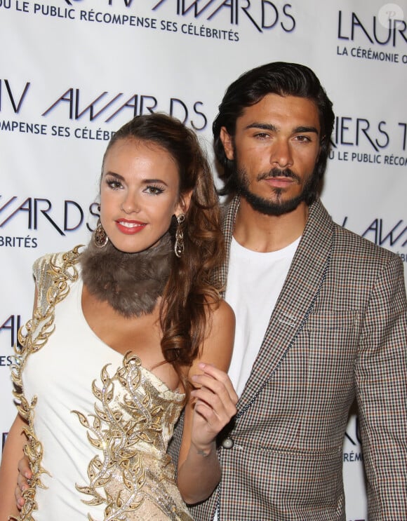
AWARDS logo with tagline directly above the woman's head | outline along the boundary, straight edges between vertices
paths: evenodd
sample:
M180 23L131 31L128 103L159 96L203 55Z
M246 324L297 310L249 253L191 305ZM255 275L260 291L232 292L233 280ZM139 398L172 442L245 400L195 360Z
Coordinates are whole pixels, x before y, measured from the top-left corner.
M10 79L0 79L0 111L9 109L14 114L24 116L25 107L37 106L30 81L16 83ZM116 118L128 121L140 114L165 111L180 119L194 130L204 130L208 119L204 112L204 102L185 102L180 97L159 99L155 95L140 93L109 93L98 90L93 93L84 89L67 87L63 92L50 95L50 100L39 108L39 117L51 114L65 117L69 121L112 124ZM116 126L115 126L116 128ZM0 131L73 137L74 139L105 140L112 137L112 130L93 129L86 126L49 126L46 123L25 123L24 121L1 120Z

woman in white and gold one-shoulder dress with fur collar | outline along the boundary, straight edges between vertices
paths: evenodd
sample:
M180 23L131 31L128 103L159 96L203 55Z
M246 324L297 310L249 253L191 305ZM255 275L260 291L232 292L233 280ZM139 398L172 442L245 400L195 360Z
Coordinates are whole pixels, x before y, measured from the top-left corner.
M88 247L34 264L1 521L191 519L185 502L218 484L215 437L236 412L234 316L211 282L222 255L194 133L164 114L127 123L103 158ZM185 404L177 487L166 447ZM18 517L23 450L32 480Z

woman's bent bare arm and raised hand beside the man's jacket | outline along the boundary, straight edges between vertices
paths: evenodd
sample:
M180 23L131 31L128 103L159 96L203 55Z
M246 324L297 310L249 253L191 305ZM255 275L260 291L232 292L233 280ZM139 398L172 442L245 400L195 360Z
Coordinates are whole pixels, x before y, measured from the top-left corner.
M213 311L199 358L189 367L194 389L185 405L177 483L185 503L208 498L222 474L216 436L236 414L237 395L227 370L232 358L234 313L225 301Z

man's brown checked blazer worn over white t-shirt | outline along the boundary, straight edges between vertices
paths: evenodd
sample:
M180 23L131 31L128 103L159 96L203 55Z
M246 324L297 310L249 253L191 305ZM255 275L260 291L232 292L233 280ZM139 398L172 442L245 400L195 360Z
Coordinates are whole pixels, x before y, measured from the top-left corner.
M225 214L223 283L238 208L234 198ZM356 399L368 520L407 520L406 346L401 258L316 201L227 433L234 445L220 444L220 486L194 519L212 520L218 505L220 521L344 521Z

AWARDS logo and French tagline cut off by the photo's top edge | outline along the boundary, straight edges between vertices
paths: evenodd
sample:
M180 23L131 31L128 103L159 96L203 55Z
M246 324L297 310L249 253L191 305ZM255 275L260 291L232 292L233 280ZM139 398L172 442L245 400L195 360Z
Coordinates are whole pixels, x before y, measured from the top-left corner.
M39 3L31 6L27 0L15 0L15 5L11 0L1 0L0 7L15 7L16 11L52 18L144 27L230 42L240 40L240 34L235 30L239 27L249 27L260 33L277 31L288 34L296 25L293 6L272 0L206 0L204 4L201 0L149 0L149 6L144 5L143 12L149 9L150 16L136 11L137 0L98 0L101 11L89 8L88 0L58 1L60 6ZM112 11L115 8L124 9L124 13ZM155 18L156 13L176 18Z

